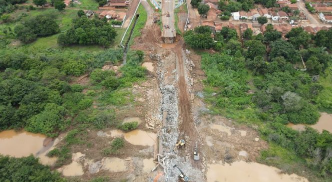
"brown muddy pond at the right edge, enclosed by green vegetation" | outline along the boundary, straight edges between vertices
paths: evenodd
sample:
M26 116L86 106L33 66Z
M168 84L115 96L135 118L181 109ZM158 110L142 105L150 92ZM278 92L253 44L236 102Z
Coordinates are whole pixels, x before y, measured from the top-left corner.
M306 125L304 125L304 124L294 125L292 123L288 124L287 126L293 128L294 130L298 130L298 131L304 131L305 127L306 127ZM332 133L332 114L321 113L320 120L315 125L308 125L308 126L318 130L319 132L323 132L323 130L327 130L330 133Z

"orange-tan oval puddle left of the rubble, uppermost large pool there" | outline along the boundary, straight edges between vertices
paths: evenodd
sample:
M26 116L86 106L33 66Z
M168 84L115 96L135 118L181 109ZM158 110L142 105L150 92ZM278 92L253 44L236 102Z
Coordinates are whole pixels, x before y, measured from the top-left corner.
M133 130L125 133L124 139L132 145L153 146L157 139L157 134L143 130Z

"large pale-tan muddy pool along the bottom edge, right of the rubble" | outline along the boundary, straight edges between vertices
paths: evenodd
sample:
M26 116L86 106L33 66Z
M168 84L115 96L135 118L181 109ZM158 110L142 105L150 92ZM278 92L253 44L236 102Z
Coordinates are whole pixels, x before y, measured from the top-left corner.
M229 164L208 164L207 182L309 182L296 174L259 163L237 161Z

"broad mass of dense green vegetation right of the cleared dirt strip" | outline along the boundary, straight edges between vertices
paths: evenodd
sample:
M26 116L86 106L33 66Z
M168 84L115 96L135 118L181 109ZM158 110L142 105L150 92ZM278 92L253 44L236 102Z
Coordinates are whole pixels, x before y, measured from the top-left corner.
M325 178L332 174L332 134L327 131L320 134L311 128L297 132L285 124L314 124L320 117L319 110L332 111L331 102L320 99L325 90L320 78L330 75L331 55L324 46L330 48L327 40L331 32L321 30L312 36L298 27L286 34L288 40L284 40L281 32L269 24L264 36L246 32L242 45L236 31L224 27L215 34L214 41L210 38L200 41L221 51L202 55L202 68L207 75L205 98L213 112L259 125L268 141L307 159L305 165ZM195 40L186 38L187 33L184 33L187 45L206 47L196 46ZM198 27L189 35L195 33L210 31ZM270 154L271 151L262 153L263 157L271 157Z

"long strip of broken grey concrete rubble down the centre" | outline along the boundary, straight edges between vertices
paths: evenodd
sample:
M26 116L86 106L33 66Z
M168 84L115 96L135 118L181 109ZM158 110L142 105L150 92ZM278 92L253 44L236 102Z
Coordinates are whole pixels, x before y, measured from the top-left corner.
M178 165L179 168L190 177L190 181L202 182L204 181L203 173L192 167L190 164L191 155L187 155L186 158L180 157L173 153L178 137L178 91L177 87L171 84L165 84L164 75L166 73L162 58L158 54L149 54L150 59L157 62L157 74L159 79L159 88L162 93L162 102L160 109L160 118L163 118L165 114L165 120L160 135L160 142L163 147L163 155L158 155L158 165L156 168L161 167L164 171L164 176L159 180L162 182L177 182L180 172L178 169L173 168L174 165ZM185 57L185 56L184 56ZM187 60L186 65L193 66L192 61ZM187 66L186 66L187 67ZM188 82L188 78L187 83ZM188 85L189 87L190 85ZM189 90L190 91L190 90Z

